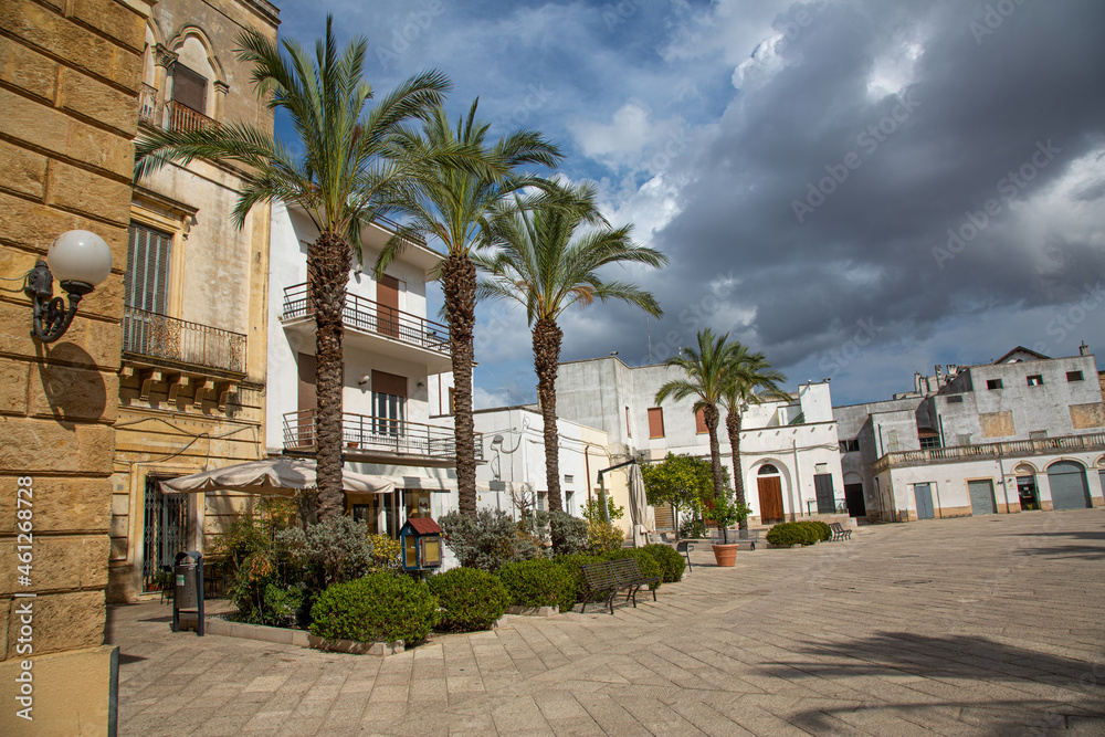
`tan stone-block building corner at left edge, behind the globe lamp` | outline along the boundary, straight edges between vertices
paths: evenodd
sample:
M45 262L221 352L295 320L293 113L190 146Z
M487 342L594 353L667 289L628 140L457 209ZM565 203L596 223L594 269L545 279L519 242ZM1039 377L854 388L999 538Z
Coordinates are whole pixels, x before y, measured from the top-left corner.
M31 308L18 282L0 291L6 735L76 734L77 725L85 734L106 734L109 726L113 649L103 643L113 424L133 140L151 4L0 3L0 274L19 280L73 229L101 235L114 262L53 344L30 336ZM28 483L32 494L18 496ZM17 520L32 528L31 567L19 572L27 579L17 577ZM29 593L35 596L17 596ZM27 697L15 681L24 671L33 674L33 722L15 716L23 704L17 696Z

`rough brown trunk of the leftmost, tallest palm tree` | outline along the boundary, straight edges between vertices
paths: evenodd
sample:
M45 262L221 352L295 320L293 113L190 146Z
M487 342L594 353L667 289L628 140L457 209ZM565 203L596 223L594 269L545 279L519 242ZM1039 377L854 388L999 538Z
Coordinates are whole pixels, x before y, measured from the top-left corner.
M318 235L307 253L307 294L315 313L315 448L318 520L345 514L341 486L341 310L352 256L335 232Z

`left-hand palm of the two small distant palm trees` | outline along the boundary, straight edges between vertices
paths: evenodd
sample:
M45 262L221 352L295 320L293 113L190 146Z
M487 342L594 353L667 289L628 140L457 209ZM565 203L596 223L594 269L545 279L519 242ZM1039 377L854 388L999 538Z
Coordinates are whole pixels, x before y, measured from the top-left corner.
M726 386L726 358L729 334L716 336L709 328L698 331L698 347L687 347L678 356L672 356L664 366L683 369L686 375L682 379L672 379L656 391L656 404L665 399L680 400L696 397L695 413L702 412L709 433L709 462L714 470L714 497L725 494L725 482L722 477L722 452L717 445L717 423L719 414L717 404Z

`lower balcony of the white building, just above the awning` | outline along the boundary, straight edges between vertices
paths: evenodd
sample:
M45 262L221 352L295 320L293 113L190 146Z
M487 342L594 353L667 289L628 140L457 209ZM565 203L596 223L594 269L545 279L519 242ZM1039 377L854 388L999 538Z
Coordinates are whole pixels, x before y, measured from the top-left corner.
M284 450L314 451L315 410L284 414ZM475 433L476 460L483 459L483 441ZM417 461L450 465L456 462L456 441L452 428L354 414L341 415L341 442L347 456L387 462Z

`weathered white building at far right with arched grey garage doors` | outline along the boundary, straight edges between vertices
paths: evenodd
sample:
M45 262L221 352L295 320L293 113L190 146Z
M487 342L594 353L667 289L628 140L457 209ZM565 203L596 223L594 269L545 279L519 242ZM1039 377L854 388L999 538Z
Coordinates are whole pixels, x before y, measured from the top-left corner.
M838 407L845 491L874 519L1105 505L1105 403L1094 357L1015 348L937 367L914 391Z

